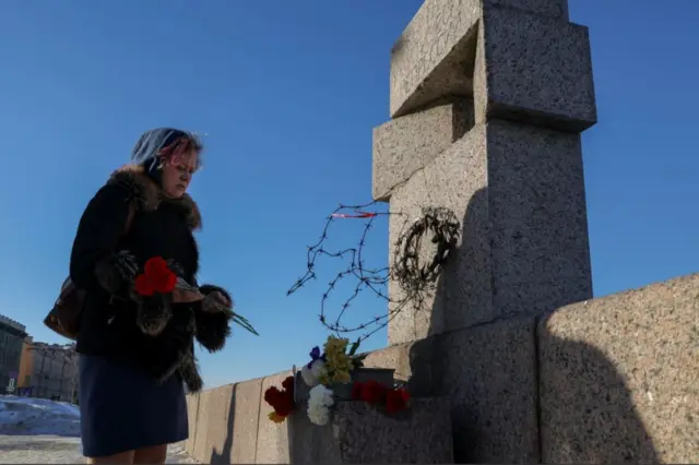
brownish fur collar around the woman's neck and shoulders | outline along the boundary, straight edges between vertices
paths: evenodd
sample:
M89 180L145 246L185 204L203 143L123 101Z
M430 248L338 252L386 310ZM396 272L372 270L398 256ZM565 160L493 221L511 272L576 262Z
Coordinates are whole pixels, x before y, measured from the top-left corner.
M126 165L117 169L107 183L127 188L137 202L137 210L152 212L157 210L162 202L168 202L182 208L191 230L201 228L201 214L192 198L189 194L177 200L167 198L163 189L153 182L141 166Z

